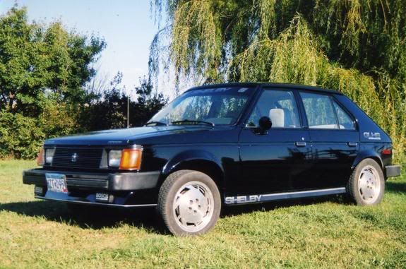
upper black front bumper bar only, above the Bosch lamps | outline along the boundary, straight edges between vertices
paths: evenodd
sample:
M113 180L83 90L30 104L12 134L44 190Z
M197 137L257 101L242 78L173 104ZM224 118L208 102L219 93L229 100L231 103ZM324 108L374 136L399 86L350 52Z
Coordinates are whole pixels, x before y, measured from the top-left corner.
M84 172L56 172L43 169L25 170L23 184L47 186L45 174L64 174L68 189L92 189L100 191L138 191L154 189L160 177L160 171L96 174Z

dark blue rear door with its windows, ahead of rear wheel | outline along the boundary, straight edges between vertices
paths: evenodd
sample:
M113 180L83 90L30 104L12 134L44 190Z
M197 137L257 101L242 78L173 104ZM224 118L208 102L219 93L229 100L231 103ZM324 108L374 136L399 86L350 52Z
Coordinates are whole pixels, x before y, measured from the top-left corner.
M311 178L306 187L326 189L345 186L359 150L354 118L330 94L299 92L313 153Z

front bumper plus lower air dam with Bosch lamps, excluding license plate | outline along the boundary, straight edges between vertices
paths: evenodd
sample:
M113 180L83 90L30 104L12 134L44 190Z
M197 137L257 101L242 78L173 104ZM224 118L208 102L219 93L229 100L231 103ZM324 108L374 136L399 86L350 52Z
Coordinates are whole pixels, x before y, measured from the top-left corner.
M64 174L68 193L48 191L47 173ZM35 198L121 208L155 206L159 178L159 171L97 174L32 169L23 172L23 183L35 185Z

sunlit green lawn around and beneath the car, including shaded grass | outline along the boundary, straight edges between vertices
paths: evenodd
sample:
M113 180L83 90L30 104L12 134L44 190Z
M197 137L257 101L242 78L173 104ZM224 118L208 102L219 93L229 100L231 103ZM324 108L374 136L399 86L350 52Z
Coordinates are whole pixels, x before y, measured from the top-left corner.
M406 268L406 177L381 205L329 198L238 207L213 232L176 238L153 210L69 215L22 184L33 162L0 162L0 268Z

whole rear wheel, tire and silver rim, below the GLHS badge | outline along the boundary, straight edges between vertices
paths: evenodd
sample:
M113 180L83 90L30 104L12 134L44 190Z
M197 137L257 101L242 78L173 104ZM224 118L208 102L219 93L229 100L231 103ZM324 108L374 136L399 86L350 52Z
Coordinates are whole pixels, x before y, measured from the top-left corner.
M372 189L374 190L372 191ZM384 193L385 178L381 166L372 159L359 162L347 183L347 194L352 203L377 205L381 203Z

